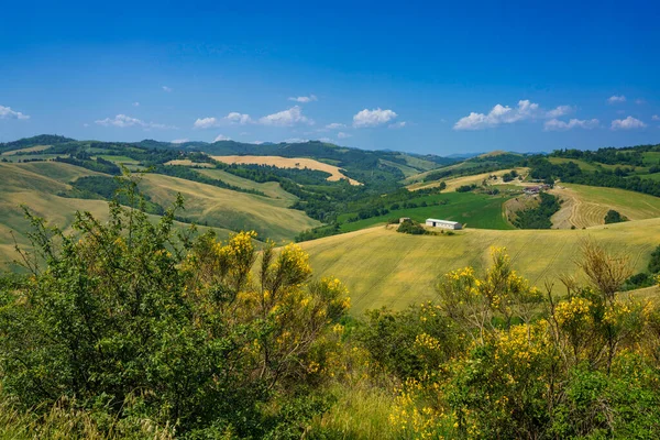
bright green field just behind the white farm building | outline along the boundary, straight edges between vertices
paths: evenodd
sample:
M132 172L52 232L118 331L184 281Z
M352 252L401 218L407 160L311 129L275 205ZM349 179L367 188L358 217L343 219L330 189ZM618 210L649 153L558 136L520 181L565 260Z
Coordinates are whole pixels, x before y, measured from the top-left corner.
M420 223L424 223L428 218L435 218L458 221L468 228L514 229L504 217L503 205L507 199L506 196L487 196L473 193L447 193L420 197L414 201L419 204L425 200L431 205L438 200L446 200L447 205L396 209L385 216L343 223L341 230L343 232L356 231L374 224L386 223L389 219L400 217L409 217ZM345 220L348 217L351 216L343 215L340 216L340 219Z

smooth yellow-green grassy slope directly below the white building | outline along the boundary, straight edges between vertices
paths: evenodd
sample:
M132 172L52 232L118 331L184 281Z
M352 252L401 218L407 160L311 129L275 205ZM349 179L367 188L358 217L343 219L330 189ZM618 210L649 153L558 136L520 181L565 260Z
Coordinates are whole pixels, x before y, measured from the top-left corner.
M453 237L406 235L376 227L302 243L318 276L337 276L351 292L353 311L381 306L397 309L433 299L438 276L473 265L482 271L493 245L506 246L514 267L535 285L576 273L580 240L593 238L630 254L636 270L660 244L660 219L587 230L466 230Z

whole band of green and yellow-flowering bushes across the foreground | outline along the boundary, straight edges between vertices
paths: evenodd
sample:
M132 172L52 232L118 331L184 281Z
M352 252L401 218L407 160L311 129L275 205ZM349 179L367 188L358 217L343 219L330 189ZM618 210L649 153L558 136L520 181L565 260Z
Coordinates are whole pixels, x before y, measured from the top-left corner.
M631 267L594 241L582 278L539 289L494 248L432 301L349 316L300 248L176 232L180 208L113 201L73 233L28 213L29 274L0 284L0 437L660 435L660 309L617 294Z

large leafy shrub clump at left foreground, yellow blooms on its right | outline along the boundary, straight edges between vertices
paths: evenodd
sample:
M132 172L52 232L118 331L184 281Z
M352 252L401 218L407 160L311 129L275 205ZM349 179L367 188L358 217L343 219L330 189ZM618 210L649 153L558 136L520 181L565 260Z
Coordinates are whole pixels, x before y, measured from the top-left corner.
M107 224L78 212L73 234L28 213L32 275L0 296L3 387L23 408L66 398L179 433L263 437L265 403L322 381L349 307L339 280L310 280L293 244L257 254L253 232L177 231L182 204L154 224L112 202Z

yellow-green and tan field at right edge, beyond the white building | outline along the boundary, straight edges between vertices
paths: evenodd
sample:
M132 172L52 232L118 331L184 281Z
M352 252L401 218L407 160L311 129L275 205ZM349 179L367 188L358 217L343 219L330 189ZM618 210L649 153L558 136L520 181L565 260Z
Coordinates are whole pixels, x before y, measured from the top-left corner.
M660 198L618 188L559 184L550 190L564 200L552 216L552 228L590 228L604 224L605 215L614 209L630 220L660 217Z

